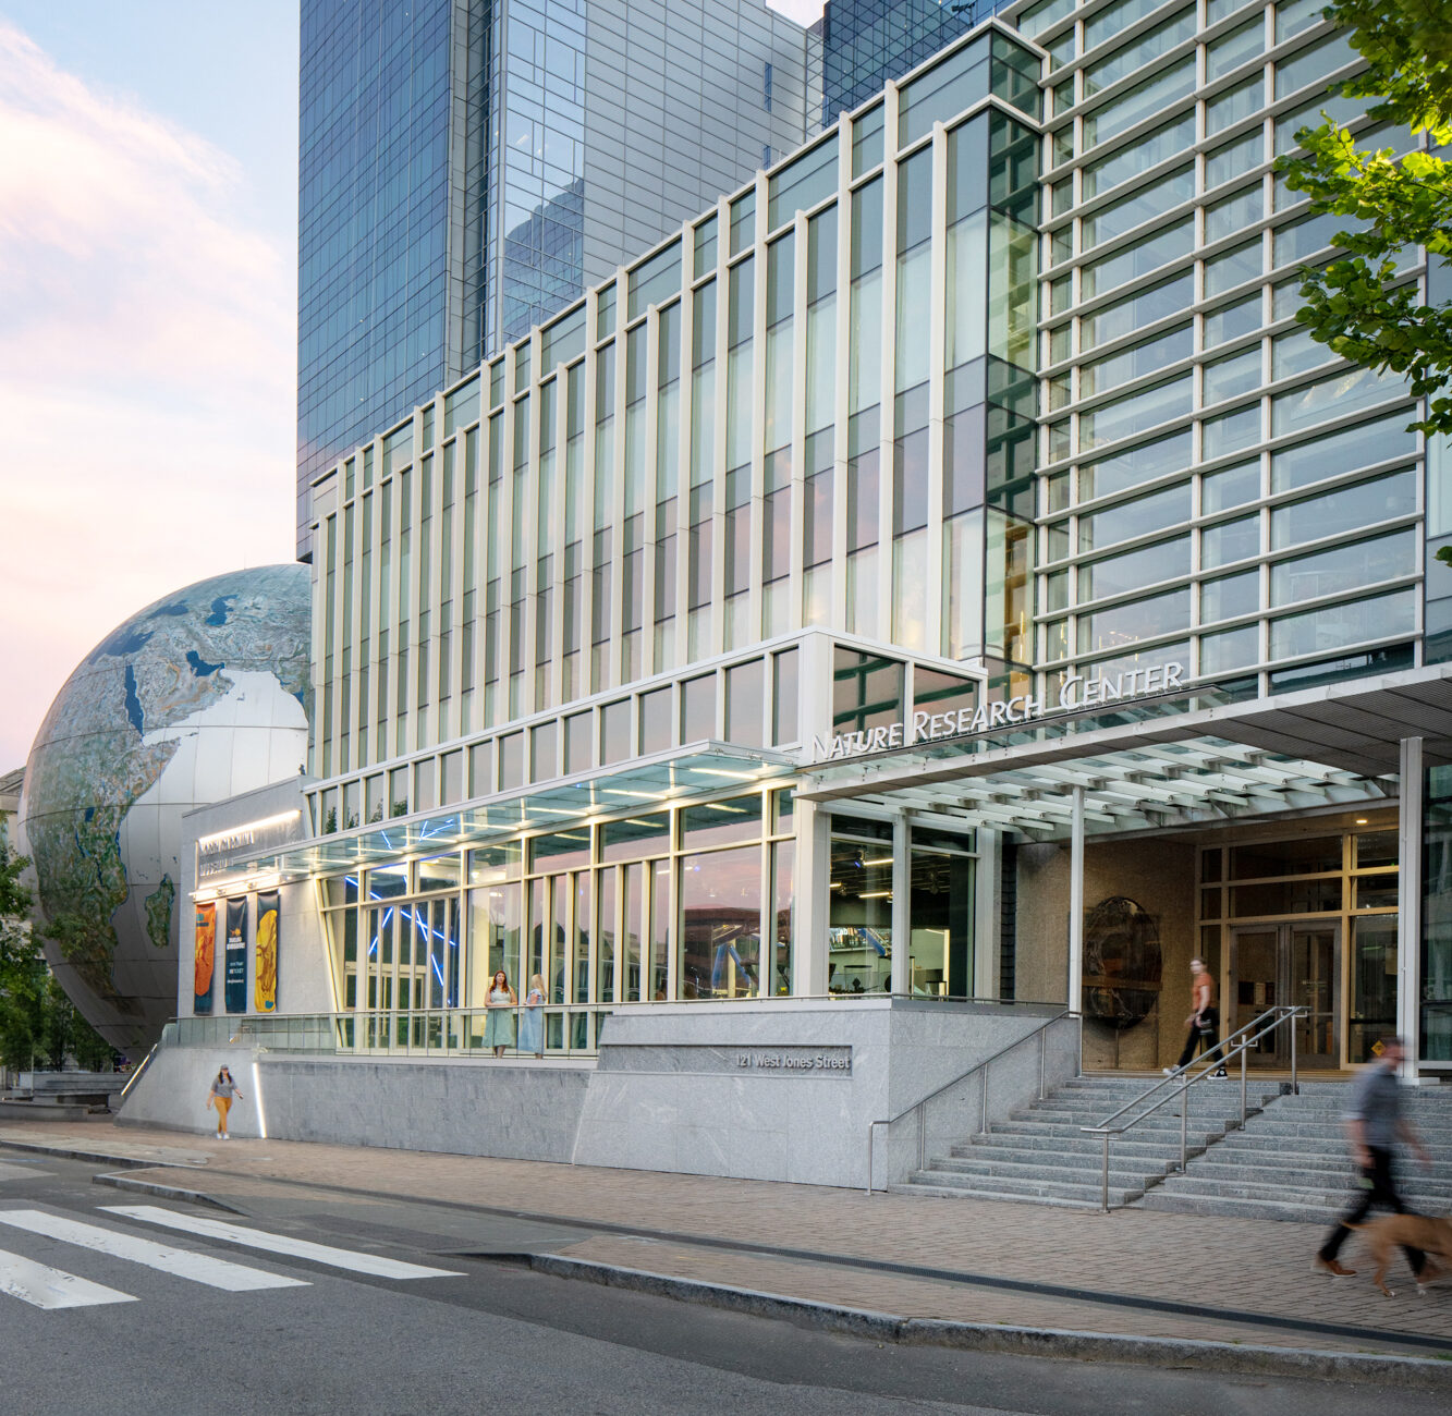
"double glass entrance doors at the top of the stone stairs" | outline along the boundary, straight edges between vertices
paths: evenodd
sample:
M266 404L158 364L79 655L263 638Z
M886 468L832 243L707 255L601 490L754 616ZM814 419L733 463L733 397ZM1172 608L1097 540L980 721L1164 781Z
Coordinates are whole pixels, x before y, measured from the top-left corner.
M1231 1028L1241 1028L1268 1008L1297 1004L1307 1011L1295 1024L1297 1062L1302 1067L1340 1065L1340 945L1334 921L1318 924L1241 925L1231 932ZM1262 1040L1252 1066L1288 1067L1291 1040L1285 1028Z

